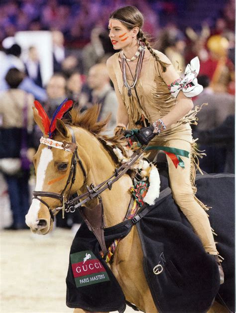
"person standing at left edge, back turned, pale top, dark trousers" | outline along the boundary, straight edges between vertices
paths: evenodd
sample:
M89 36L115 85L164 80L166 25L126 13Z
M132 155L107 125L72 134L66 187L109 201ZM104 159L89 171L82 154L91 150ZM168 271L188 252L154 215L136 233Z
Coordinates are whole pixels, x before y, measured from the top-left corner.
M24 73L16 68L6 74L9 89L0 94L0 170L8 186L13 224L7 229L27 228L25 215L29 208L29 165L33 126L32 103L34 97L18 88Z

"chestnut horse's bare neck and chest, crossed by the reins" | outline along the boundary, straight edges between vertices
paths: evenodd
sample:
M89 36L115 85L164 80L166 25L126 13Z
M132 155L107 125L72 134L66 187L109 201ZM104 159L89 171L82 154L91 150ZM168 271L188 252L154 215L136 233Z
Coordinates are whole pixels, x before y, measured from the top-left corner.
M91 135L92 137L92 135ZM95 186L107 180L116 168L116 164L109 152L94 137L86 140L86 152L90 158L90 169L87 176L87 185L93 183ZM104 217L106 227L111 227L122 222L125 217L130 201L129 188L132 185L131 178L124 174L116 181L112 189L106 189L102 194ZM88 206L94 206L91 201Z

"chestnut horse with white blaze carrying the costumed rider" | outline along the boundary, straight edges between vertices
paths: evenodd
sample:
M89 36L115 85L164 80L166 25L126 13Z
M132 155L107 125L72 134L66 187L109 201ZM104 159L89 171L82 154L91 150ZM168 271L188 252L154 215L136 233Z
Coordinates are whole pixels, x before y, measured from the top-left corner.
M49 147L45 146L43 142L39 145L33 158L36 173L36 196L32 199L26 215L26 224L34 234L46 235L52 231L54 215L59 212L59 209L63 209L64 196L69 199L69 196L74 193L79 195L86 193L88 185L97 186L102 181L106 181L117 168L117 157L108 149L105 141L109 140L115 143L120 149L122 149L122 141L117 136L108 139L101 135L108 119L97 122L98 115L99 108L97 106L88 109L83 114L72 109L72 121L70 123L59 119L56 122L53 136L55 142L64 143L64 146L68 147L68 143L72 143L73 136L75 137L80 162L75 165L77 170L74 172L73 184L68 182L68 177L71 178L72 175L71 165L73 161L70 149L48 149ZM44 125L36 109L34 109L34 119L43 133ZM70 129L73 130L74 135L71 134ZM122 223L130 202L129 188L131 185L130 174L124 173L113 183L112 188L107 188L100 195L103 202L106 228ZM63 200L60 197L48 196L50 193L57 193L58 195L63 193ZM97 197L91 198L86 203L87 208L94 208L97 205ZM128 235L119 241L113 255L113 262L109 266L129 303L146 313L158 312L145 278L143 251L135 226L132 227ZM130 266L132 270L130 270ZM92 311L81 308L74 310L74 313L82 312ZM175 312L174 308L173 312ZM208 312L224 313L229 311L215 303Z

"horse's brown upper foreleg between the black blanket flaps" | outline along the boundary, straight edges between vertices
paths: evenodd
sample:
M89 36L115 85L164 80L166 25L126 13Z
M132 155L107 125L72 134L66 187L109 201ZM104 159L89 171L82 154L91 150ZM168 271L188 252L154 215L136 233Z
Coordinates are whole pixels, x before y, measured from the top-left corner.
M123 238L111 268L125 299L146 313L157 313L142 267L143 253L136 228Z

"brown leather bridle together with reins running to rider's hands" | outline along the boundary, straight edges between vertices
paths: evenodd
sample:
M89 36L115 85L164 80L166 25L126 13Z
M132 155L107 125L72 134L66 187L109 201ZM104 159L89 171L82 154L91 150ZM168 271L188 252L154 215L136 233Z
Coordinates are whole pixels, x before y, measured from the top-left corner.
M135 151L132 156L130 157L130 159L123 163L121 166L119 166L118 168L115 169L114 174L112 176L110 176L107 180L105 180L104 182L100 183L97 186L94 186L94 184L91 184L90 186L86 186L87 187L87 192L81 194L78 196L73 196L70 199L70 191L72 188L72 185L75 182L76 179L76 168L77 168L77 163L79 163L81 170L83 172L84 175L84 184L86 183L86 179L87 179L87 173L85 170L85 167L83 165L82 160L80 159L79 155L78 155L78 147L76 145L76 139L75 139L75 134L73 129L68 126L68 129L70 130L70 133L72 135L72 142L68 143L68 142L62 142L60 144L62 148L65 151L69 151L72 152L72 159L71 159L71 167L70 167L70 172L69 172L69 176L67 178L67 182L66 185L64 187L64 189L62 190L62 192L59 193L55 193L55 192L47 192L47 191L33 191L33 199L37 199L39 200L41 203L43 203L49 210L51 219L54 221L55 218L55 213L59 210L62 210L62 216L64 218L64 213L65 212L75 212L76 209L81 209L81 207L83 206L83 204L85 204L86 202L88 202L89 200L92 200L96 197L99 198L99 200L101 201L101 196L100 194L106 190L106 189L112 189L112 185L113 183L115 183L123 174L125 174L128 169L131 167L131 165L143 154L144 150L142 150L142 147L140 147L137 151ZM43 138L44 139L44 138ZM43 142L42 142L43 143ZM55 147L55 146L54 146ZM49 146L48 149L51 149L51 147ZM69 187L69 192L68 192L68 197L65 200L65 191L68 187L68 185L70 184ZM39 197L49 197L49 198L54 198L54 199L58 199L61 202L61 206L60 207L56 207L54 209L51 209L50 206L46 203L46 201L42 200ZM85 198L85 199L83 199ZM83 199L83 200L81 200Z

